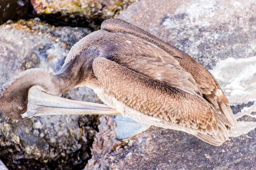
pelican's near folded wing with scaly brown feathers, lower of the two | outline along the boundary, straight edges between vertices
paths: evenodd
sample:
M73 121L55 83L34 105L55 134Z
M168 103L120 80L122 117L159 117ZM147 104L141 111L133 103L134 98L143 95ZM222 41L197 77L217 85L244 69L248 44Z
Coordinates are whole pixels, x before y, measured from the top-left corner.
M106 58L93 61L93 72L105 94L111 91L110 97L159 119L159 127L177 127L175 130L199 136L214 145L228 139L227 128L218 120L220 113L198 95L145 77Z

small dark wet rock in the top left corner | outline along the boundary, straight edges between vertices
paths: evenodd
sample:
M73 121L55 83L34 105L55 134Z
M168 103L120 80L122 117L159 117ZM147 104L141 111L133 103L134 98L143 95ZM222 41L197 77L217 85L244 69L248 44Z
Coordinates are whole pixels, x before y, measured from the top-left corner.
M3 24L8 20L18 20L24 17L28 7L28 0L1 0L0 24Z

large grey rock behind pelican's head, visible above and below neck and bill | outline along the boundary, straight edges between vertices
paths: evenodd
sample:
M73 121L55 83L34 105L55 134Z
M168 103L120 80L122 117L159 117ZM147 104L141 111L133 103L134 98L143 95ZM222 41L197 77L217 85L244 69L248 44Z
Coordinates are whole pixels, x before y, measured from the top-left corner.
M54 27L39 19L0 26L0 86L29 68L58 71L88 28ZM97 102L89 88L62 96ZM90 98L87 99L87 96ZM81 169L87 163L97 116L41 116L23 121L0 113L0 159L9 169Z

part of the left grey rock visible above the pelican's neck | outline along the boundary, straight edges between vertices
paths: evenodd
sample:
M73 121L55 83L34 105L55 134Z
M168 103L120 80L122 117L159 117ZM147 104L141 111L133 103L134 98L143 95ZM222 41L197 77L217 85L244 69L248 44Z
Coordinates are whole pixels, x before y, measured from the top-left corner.
M0 85L33 67L58 71L71 46L90 33L87 28L55 28L38 19L3 24L0 29Z

